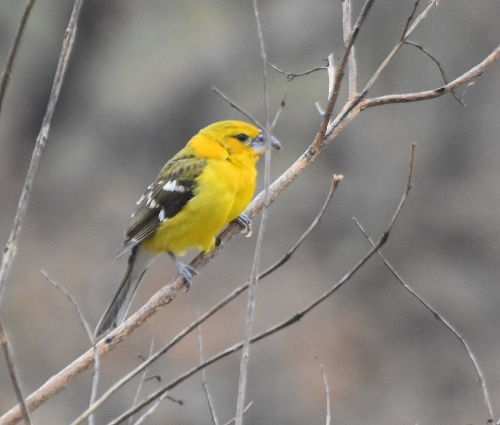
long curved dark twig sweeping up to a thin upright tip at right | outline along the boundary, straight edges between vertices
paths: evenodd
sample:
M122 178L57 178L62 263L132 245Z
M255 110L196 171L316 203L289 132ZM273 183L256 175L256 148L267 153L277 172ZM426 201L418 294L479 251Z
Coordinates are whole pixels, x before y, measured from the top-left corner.
M399 216L399 213L402 210L402 207L404 206L404 203L407 199L408 192L411 188L411 172L412 172L412 164L413 164L413 148L410 153L410 165L408 169L408 180L406 182L406 187L404 189L403 196L396 208L396 211L392 215L392 218L390 220L390 223L387 227L387 229L384 231L380 239L377 241L377 243L373 246L372 249L368 251L364 257L362 257L338 282L336 282L330 289L328 289L325 293L323 293L319 298L314 300L312 303L310 303L307 307L304 309L300 310L298 313L295 313L293 316L289 317L288 319L268 328L264 332L261 332L258 335L255 335L250 339L250 343L254 343L256 341L259 341L263 338L266 338L269 335L272 335L288 326L291 324L299 321L302 319L307 313L309 313L311 310L313 310L315 307L317 307L321 302L323 302L326 298L328 298L330 295L332 295L334 292L336 292L345 282L347 282L353 274L361 268L361 266L368 261L369 258L378 250L380 247L382 247L385 242L387 241L390 231ZM241 350L243 347L243 343L237 343L232 345L231 347L227 348L226 350L210 357L209 359L205 360L203 363L198 364L197 366L194 366L187 372L185 372L183 375L177 377L175 380L171 381L169 384L165 385L163 388L158 389L154 393L150 394L148 397L146 397L142 402L136 404L135 406L132 406L129 410L124 412L121 416L116 418L114 421L110 422L108 425L117 425L120 424L122 421L127 419L130 415L135 414L145 406L148 406L149 404L153 403L158 397L160 397L162 394L164 394L166 391L174 388L181 382L185 381L187 378L195 374L196 372L200 371L201 369L211 365L212 363L228 356L229 354L232 354L234 352L237 352Z

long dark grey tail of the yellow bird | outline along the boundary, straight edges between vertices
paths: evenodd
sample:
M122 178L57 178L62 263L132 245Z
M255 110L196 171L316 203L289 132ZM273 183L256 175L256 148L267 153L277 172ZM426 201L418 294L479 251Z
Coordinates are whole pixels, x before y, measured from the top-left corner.
M94 338L100 337L123 322L140 279L153 260L154 256L145 251L140 245L132 248L128 257L125 275L95 328Z

